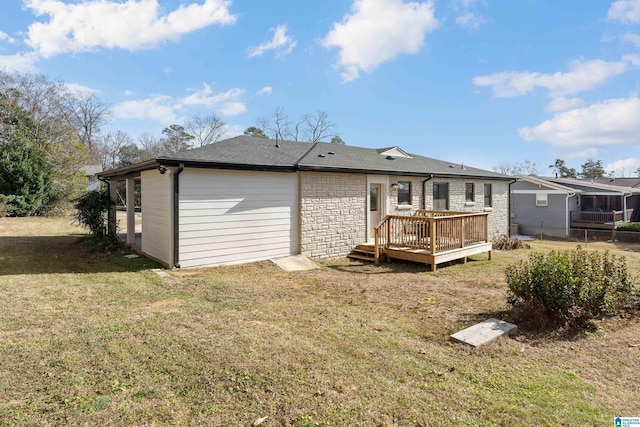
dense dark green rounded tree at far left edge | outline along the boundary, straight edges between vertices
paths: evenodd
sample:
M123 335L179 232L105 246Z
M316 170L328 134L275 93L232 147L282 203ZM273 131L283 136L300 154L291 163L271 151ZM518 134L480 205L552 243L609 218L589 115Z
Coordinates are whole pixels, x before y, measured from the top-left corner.
M35 215L49 199L53 168L45 153L20 130L0 145L0 201L9 216Z

